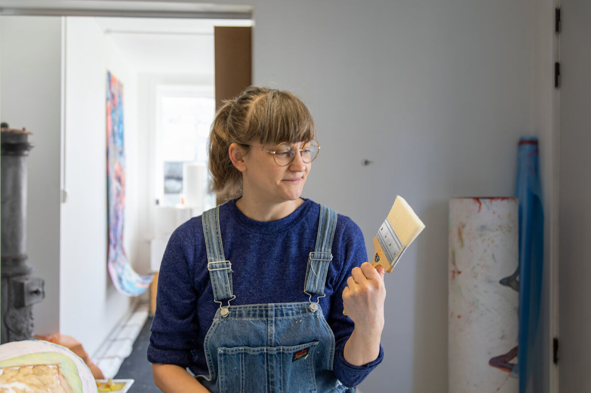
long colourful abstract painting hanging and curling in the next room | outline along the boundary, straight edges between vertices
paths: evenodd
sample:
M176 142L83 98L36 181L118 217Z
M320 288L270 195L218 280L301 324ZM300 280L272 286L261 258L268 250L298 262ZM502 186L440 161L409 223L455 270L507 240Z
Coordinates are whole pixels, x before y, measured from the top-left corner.
M124 248L125 149L122 97L121 82L107 71L108 267L113 284L119 292L127 296L138 296L150 286L152 276L136 273L129 263Z

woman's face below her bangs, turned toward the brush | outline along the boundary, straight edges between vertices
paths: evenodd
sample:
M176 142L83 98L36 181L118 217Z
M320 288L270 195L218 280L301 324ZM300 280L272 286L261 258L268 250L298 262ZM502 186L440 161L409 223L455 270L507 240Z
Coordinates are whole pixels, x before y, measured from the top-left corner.
M286 166L279 166L273 155L264 150L274 150L273 144L262 145L252 142L248 154L244 156L246 171L242 172L243 192L254 196L258 201L281 203L300 198L311 163L302 161L301 152L296 152L294 160ZM294 150L301 149L304 142L294 143Z

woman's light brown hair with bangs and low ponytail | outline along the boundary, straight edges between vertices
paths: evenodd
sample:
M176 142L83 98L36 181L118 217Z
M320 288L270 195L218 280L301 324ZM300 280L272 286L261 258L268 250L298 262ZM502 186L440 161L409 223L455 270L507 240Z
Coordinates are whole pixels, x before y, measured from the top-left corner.
M209 171L212 191L219 199L242 195L242 173L230 161L232 143L249 145L303 142L316 137L316 127L304 103L289 91L248 87L224 101L209 133Z

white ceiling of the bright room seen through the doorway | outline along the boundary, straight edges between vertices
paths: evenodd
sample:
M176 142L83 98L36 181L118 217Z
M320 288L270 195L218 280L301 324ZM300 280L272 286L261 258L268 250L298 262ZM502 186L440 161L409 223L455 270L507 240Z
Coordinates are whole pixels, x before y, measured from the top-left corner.
M251 19L95 19L132 68L153 74L212 75L213 27L252 26Z

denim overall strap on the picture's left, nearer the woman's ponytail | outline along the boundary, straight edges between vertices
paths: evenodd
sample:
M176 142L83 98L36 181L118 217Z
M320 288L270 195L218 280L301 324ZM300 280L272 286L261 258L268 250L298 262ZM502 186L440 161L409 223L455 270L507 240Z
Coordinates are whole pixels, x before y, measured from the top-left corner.
M220 235L219 206L203 212L203 235L207 250L207 270L212 281L213 299L222 304L222 300L232 300L232 264L223 254L222 236Z

